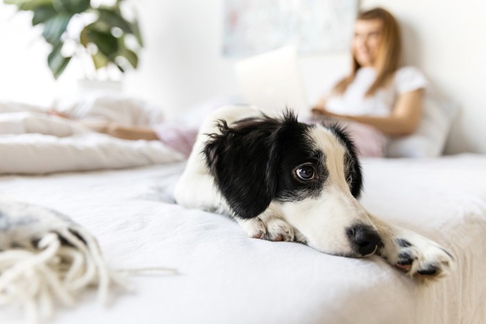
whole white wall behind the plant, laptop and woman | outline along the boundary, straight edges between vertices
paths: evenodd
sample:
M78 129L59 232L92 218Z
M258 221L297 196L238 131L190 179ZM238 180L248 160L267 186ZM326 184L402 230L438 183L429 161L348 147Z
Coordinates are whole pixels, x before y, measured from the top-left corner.
M486 153L486 1L362 0L382 5L399 18L405 63L421 68L441 92L457 101L447 151ZM174 113L216 96L237 92L233 60L221 58L224 0L137 0L146 48L140 69L126 76L126 92L159 103ZM36 41L28 15L0 4L0 99L48 104L72 91L79 67L68 67L55 83L45 60L48 48ZM311 100L349 67L347 53L305 57Z

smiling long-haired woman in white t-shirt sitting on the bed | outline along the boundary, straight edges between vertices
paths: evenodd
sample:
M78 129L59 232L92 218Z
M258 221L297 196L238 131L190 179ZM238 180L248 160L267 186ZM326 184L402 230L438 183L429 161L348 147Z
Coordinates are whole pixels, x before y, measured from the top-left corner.
M383 8L360 12L351 54L351 74L312 114L344 121L361 155L383 156L389 137L410 135L419 125L427 80L415 67L399 67L399 26Z

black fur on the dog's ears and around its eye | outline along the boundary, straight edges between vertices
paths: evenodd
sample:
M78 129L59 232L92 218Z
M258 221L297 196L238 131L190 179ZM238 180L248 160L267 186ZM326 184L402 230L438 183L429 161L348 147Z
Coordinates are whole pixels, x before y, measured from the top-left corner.
M292 112L283 117L242 119L228 126L217 123L220 134L211 134L203 154L215 184L235 216L243 219L258 216L271 201L300 201L319 196L328 178L326 156L315 148L310 130L315 127L299 123ZM353 196L361 190L361 172L351 140L334 126L333 133L342 140L346 154L346 177L352 178ZM302 180L296 168L311 166L315 178Z

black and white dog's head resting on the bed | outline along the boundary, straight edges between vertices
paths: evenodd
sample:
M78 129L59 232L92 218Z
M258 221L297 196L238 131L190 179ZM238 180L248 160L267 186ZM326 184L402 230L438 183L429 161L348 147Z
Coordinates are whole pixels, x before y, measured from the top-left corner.
M340 126L300 123L292 112L219 121L204 154L236 217L256 217L272 204L317 250L360 256L380 245L356 200L360 163Z

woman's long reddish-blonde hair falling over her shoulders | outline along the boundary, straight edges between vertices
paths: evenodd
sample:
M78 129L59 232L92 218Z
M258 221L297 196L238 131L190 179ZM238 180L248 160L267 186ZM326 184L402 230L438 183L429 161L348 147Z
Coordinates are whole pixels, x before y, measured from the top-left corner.
M374 8L358 14L357 20L378 19L382 22L381 44L376 58L376 79L366 92L366 96L373 95L380 87L384 87L391 80L395 71L399 68L401 56L401 37L399 24L396 19L383 8ZM352 71L349 76L338 82L333 92L343 94L353 82L361 65L353 53Z

